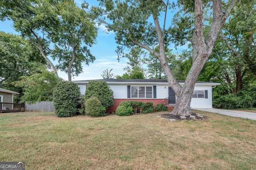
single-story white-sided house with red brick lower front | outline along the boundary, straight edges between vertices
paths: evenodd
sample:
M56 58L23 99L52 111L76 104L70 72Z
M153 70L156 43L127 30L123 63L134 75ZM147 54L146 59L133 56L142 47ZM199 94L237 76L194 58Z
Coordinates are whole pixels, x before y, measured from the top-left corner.
M107 112L114 112L122 101L136 100L152 102L155 105L164 103L168 109L176 104L176 95L166 79L98 79L108 83L114 92L114 105ZM88 81L74 81L79 87L81 95L86 91ZM178 80L180 85L185 81ZM191 108L212 108L212 88L220 83L197 81L194 87Z

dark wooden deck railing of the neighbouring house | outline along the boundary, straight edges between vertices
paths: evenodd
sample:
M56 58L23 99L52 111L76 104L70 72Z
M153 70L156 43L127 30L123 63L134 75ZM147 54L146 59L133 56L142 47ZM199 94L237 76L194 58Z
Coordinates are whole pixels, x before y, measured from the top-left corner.
M18 103L0 103L0 113L3 112L24 112L25 104Z

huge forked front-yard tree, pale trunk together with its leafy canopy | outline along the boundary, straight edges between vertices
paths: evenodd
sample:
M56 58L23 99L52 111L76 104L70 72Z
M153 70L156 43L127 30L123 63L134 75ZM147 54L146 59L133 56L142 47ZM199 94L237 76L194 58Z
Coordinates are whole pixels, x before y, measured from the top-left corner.
M115 2L100 0L100 5L105 7L104 14L112 21L112 23L108 23L107 27L116 33L118 44L128 47L138 45L158 57L168 83L177 96L173 113L187 116L191 113L190 103L196 79L212 53L218 33L236 1L230 0L229 4L226 4L226 1L213 0L213 2L204 2L205 4L203 4L202 0L195 0L192 5L188 1L180 0L178 2L182 6L183 15L175 18L176 27L174 29L170 28L168 31L170 34L167 34L165 28L167 10L170 5L168 0L167 2L164 0L116 0ZM210 10L211 6L212 24L208 32L203 33L204 11ZM186 19L187 16L192 16L192 14L194 20ZM152 16L153 23L150 23L150 16ZM164 16L162 27L159 22L161 16ZM177 29L178 26L182 26L182 28ZM190 32L191 28L192 32ZM180 32L177 32L177 30L180 30ZM166 60L166 45L168 46L170 43L169 37L175 36L175 33L178 33L176 36L179 36L177 43L184 44L185 40L189 40L193 48L192 67L183 86L174 77ZM159 52L153 50L153 47L157 44L159 45ZM123 48L119 47L118 49Z

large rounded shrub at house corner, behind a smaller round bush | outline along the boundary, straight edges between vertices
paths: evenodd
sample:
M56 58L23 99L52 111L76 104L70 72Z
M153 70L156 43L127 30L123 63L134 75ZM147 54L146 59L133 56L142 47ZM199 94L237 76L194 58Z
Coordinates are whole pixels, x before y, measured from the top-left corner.
M92 96L97 97L105 108L111 107L114 104L114 93L106 81L91 80L88 82L84 99L90 99Z

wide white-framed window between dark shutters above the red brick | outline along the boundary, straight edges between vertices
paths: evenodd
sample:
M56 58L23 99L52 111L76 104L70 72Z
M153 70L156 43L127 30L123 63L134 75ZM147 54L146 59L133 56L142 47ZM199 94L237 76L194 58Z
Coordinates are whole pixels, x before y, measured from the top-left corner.
M152 86L132 86L131 87L132 98L153 98Z

